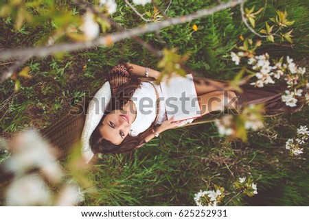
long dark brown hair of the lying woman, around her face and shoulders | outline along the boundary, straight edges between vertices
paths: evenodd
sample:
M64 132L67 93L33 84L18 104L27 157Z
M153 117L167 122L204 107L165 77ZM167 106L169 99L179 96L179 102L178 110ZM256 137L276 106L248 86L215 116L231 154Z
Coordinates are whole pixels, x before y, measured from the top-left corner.
M123 64L124 65L124 64ZM122 66L123 67L123 66ZM130 66L125 65L126 71L130 72ZM113 79L114 80L114 79ZM113 81L108 79L108 81ZM115 85L115 82L113 82ZM130 73L130 80L125 82L124 84L117 85L115 88L112 87L112 97L111 101L109 101L108 106L106 106L106 110L104 112L104 116L102 117L100 123L95 128L90 137L90 145L93 153L98 154L118 154L118 153L129 153L132 152L137 147L144 144L144 139L146 136L152 133L152 130L155 129L155 123L152 123L150 127L143 133L138 136L132 137L130 135L126 136L122 143L119 145L115 145L108 140L102 138L99 132L99 127L102 125L102 121L106 114L109 114L113 110L119 110L124 106L128 101L130 101L133 93L137 88L140 88L141 81L137 77L137 75Z

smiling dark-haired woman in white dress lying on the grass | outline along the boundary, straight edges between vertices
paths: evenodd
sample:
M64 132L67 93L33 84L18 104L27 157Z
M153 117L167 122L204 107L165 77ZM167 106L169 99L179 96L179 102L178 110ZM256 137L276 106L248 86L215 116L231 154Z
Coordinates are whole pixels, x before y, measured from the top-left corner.
M194 119L167 119L164 100L159 99L163 97L161 88L153 81L160 74L135 64L114 66L108 82L98 90L89 106L86 103L86 115L69 114L42 131L54 144L58 158L69 154L69 146L78 143L80 136L82 156L89 162L94 154L130 152L165 130L192 123ZM152 81L142 82L139 77L152 77ZM301 108L301 105L295 108L286 106L281 101L284 88L279 87L259 89L246 84L242 86L243 93L238 93L225 82L198 77L194 77L194 87L201 115L222 109L222 103L229 103L229 108L240 108L249 103L264 103L265 113L268 115L295 112ZM143 97L156 103L150 106L150 114L144 114L139 108L139 101ZM209 102L214 97L216 101Z

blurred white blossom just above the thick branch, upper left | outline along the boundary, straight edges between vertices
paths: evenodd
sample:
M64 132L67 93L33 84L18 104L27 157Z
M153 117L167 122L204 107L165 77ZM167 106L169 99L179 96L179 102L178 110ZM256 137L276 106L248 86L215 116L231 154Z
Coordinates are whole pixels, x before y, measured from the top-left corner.
M84 22L80 27L86 40L93 40L97 36L99 36L100 28L98 23L96 23L93 19L93 14L91 12L86 12L84 14Z

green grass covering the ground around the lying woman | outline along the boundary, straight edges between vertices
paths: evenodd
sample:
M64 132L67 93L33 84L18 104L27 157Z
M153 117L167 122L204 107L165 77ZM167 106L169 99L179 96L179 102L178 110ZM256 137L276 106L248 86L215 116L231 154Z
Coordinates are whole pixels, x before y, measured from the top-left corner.
M210 7L216 1L173 1L168 16L188 14ZM250 1L247 7L263 7L265 1ZM68 5L69 3L63 3ZM59 6L60 7L60 6ZM113 19L131 28L143 21L119 1L119 12ZM151 6L146 8L151 10ZM138 7L139 10L144 10ZM295 19L294 45L263 41L260 53L271 56L289 54L302 66L308 65L308 2L269 1L264 21L275 15L275 9L288 11ZM178 47L180 53L191 52L186 65L196 75L231 80L236 75L229 53L241 44L240 35L253 34L240 21L239 8L218 12L191 23L163 29L159 34L141 36L156 49ZM192 25L198 26L192 32ZM14 22L0 19L0 48L36 45L51 31L51 23L41 27L24 25L13 29ZM255 38L258 39L258 38ZM163 42L161 42L163 40ZM21 80L21 90L14 93L14 81L0 85L0 133L9 137L25 127L46 127L70 108L70 100L82 98L84 91L102 86L108 70L119 62L131 62L157 69L158 58L133 40L123 40L111 47L97 47L65 54L62 58L33 58L29 80ZM8 64L0 66L4 71ZM7 101L7 102L5 102ZM170 130L138 149L131 155L106 155L89 173L93 191L84 206L194 206L194 193L216 184L225 187L225 204L237 193L233 183L237 178L251 175L258 183L258 195L240 195L231 206L308 206L308 145L299 158L290 158L285 149L287 138L295 136L299 125L309 125L308 108L295 114L266 119L266 126L250 132L247 143L233 140L227 143L218 135L213 123Z

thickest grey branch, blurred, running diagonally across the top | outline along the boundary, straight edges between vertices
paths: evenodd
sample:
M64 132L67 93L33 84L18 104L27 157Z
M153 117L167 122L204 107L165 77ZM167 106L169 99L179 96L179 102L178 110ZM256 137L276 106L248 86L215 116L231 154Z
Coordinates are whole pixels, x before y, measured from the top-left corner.
M25 49L8 49L0 52L1 60L8 60L10 58L22 58L25 56L48 56L53 53L58 52L69 52L69 51L78 51L80 49L89 49L92 47L98 47L102 45L111 45L113 42L118 42L120 40L124 40L126 38L132 38L133 36L139 36L141 34L146 34L149 32L156 32L165 27L169 27L171 25L179 25L182 23L190 22L194 19L201 18L202 16L208 16L218 12L220 10L225 10L227 8L235 7L240 3L243 3L246 0L233 0L227 3L222 3L220 5L216 5L213 8L198 10L192 14L187 14L185 16L176 17L167 19L165 21L159 23L149 23L148 25L144 25L141 27L135 27L133 29L127 30L125 32L115 33L115 34L107 34L100 38L96 38L93 41L89 42L73 42L73 43L63 43L59 45L54 45L52 47L28 47Z

